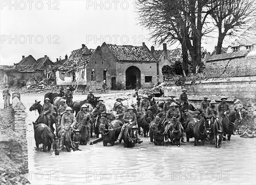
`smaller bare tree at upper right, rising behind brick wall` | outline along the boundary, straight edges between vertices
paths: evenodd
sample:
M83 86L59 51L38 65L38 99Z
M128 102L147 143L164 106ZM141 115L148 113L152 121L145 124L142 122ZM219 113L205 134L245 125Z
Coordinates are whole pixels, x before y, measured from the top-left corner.
M236 36L255 23L255 0L211 0L209 14L218 29L216 54L221 54L226 35ZM215 8L212 8L215 7Z

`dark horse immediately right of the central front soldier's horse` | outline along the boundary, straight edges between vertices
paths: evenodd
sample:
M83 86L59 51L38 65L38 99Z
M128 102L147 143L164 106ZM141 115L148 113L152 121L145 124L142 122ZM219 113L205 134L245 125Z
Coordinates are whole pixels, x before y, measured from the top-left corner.
M140 116L137 120L139 134L140 134L140 127L143 128L144 137L147 136L149 132L149 124L154 119L154 116L150 110L147 112L140 112Z

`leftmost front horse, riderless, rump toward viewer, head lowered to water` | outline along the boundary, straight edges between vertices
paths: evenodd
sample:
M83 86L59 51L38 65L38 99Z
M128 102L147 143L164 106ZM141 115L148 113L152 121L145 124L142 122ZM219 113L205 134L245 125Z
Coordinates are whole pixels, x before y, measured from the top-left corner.
M35 145L39 148L40 144L43 144L43 152L51 150L51 147L55 150L55 155L59 155L59 142L53 131L45 124L34 123Z

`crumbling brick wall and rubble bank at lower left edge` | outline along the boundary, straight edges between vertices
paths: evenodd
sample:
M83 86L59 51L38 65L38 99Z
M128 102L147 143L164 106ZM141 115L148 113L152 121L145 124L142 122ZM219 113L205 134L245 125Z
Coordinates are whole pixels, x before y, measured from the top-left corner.
M15 104L14 104L15 106ZM0 184L24 185L28 169L26 113L13 108L0 110Z

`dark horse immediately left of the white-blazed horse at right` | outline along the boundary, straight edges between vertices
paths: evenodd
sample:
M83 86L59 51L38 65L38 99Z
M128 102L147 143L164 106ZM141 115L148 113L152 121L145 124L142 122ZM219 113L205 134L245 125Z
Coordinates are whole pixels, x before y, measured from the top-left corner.
M202 145L204 145L205 140L210 137L211 134L211 124L209 119L202 117L197 121L193 128L195 137L195 146L198 146L198 141L201 140Z

